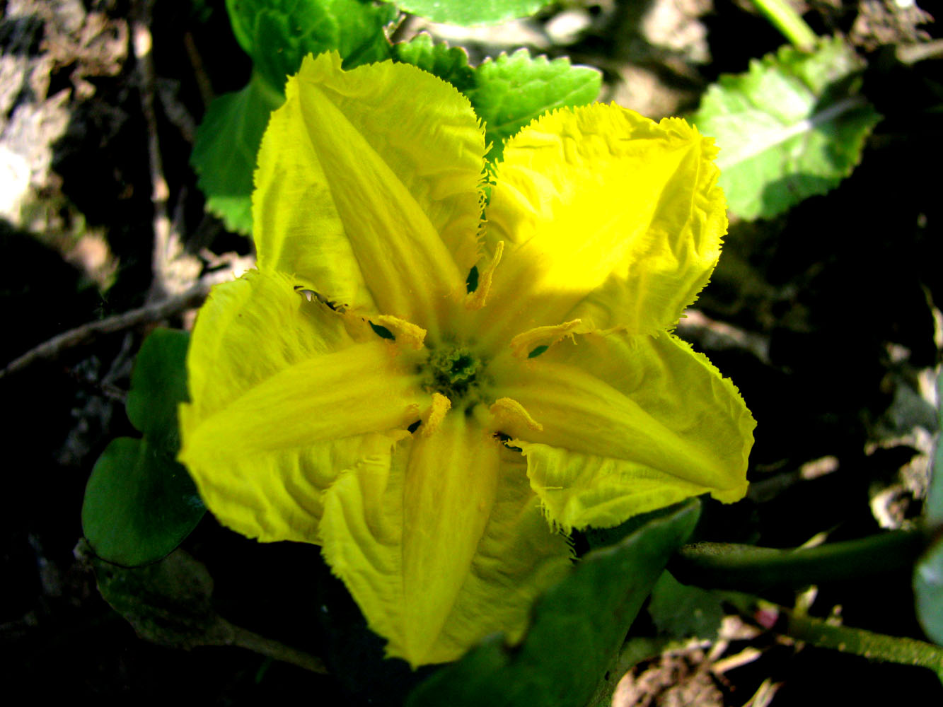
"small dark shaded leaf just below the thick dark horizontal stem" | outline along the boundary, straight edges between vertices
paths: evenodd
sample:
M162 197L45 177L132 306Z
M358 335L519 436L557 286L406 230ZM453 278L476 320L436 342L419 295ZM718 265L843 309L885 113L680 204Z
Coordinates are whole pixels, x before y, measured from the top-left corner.
M713 592L681 584L663 572L652 589L648 611L659 633L671 638L717 638L723 607Z

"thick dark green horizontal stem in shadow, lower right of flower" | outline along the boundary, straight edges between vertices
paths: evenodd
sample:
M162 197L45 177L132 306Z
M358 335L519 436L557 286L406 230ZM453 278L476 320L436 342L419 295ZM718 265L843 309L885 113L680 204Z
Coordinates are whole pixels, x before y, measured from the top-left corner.
M774 587L798 589L912 567L927 539L916 530L798 550L695 543L681 548L669 569L684 584L747 592Z

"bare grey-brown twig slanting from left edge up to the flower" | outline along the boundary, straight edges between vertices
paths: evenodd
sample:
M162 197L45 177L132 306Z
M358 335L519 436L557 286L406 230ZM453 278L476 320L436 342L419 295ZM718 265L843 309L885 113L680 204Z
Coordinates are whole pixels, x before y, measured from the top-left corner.
M67 332L63 332L56 337L42 342L39 346L30 349L16 360L11 361L3 370L0 370L0 379L8 376L10 373L23 370L40 359L57 358L58 355L62 354L64 351L91 341L91 339L95 337L120 332L124 329L139 326L140 324L165 320L186 309L199 306L207 299L210 288L229 279L232 275L232 270L210 272L204 275L196 285L183 294L175 295L174 297L159 302L145 304L138 309L132 309L129 312L117 314L114 317L108 317L108 319L90 321L74 329L70 329Z

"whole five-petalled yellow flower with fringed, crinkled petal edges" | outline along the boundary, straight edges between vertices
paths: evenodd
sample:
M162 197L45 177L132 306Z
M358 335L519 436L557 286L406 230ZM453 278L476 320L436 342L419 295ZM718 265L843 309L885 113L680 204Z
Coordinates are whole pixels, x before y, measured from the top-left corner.
M201 310L180 411L223 524L322 545L419 666L519 638L568 571L561 531L743 497L753 418L669 332L726 229L710 140L557 110L508 141L485 206L483 130L449 84L326 54L287 96L258 270Z

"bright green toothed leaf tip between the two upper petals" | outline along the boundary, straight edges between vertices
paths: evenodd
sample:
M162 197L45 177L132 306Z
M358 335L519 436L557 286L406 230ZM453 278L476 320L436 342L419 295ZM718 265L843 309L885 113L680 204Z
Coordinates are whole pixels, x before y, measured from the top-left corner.
M467 95L485 121L492 161L501 156L505 140L524 125L554 108L592 103L602 85L596 69L571 66L569 58L533 58L526 49L486 60L475 69L474 78Z

